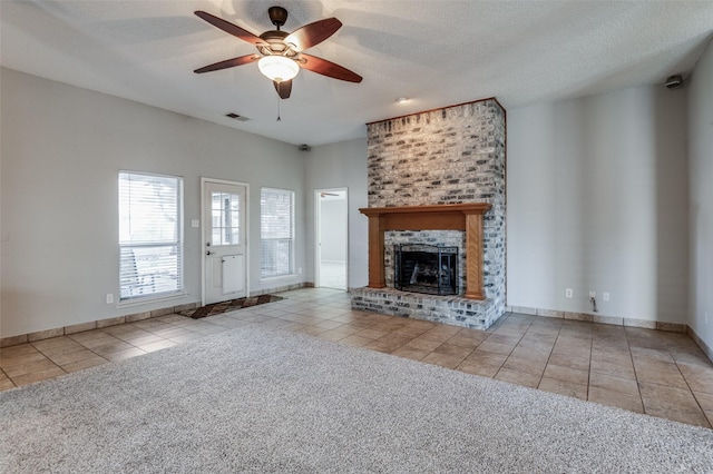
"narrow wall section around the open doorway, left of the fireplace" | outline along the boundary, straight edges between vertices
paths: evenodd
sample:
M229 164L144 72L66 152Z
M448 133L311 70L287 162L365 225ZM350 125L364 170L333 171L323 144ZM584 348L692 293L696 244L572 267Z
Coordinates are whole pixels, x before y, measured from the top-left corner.
M367 207L367 139L322 145L305 152L306 241L314 241L314 190L348 188L349 192L349 275L348 287L369 283L369 243L367 217L359 213ZM306 277L314 282L314 245L306 248Z

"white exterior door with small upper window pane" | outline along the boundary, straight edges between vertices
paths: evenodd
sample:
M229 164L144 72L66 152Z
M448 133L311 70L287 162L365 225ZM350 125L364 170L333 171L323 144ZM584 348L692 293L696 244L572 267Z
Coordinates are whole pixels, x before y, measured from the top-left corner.
M247 296L247 186L202 180L203 304Z

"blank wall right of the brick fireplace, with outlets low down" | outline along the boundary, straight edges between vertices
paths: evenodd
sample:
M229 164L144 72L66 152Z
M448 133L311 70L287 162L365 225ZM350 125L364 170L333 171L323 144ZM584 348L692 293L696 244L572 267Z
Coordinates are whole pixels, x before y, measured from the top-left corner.
M589 313L595 290L600 315L687 323L685 105L656 86L508 110L508 305Z

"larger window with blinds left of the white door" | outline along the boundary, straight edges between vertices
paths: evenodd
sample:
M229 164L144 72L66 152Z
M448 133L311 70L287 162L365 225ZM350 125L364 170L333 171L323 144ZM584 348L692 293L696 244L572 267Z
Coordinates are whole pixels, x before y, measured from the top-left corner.
M120 300L183 288L183 179L119 172Z

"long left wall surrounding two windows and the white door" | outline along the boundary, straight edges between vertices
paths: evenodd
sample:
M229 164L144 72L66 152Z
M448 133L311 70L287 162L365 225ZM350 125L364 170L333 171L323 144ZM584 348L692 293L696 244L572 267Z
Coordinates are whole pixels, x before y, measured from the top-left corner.
M139 313L201 299L202 176L250 184L251 290L300 283L260 282L260 188L304 197L304 156L289 144L1 70L0 337ZM129 308L118 294L119 170L183 176L188 295ZM296 214L297 266L305 220Z

